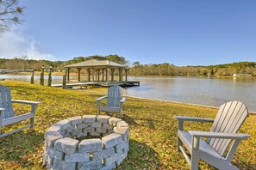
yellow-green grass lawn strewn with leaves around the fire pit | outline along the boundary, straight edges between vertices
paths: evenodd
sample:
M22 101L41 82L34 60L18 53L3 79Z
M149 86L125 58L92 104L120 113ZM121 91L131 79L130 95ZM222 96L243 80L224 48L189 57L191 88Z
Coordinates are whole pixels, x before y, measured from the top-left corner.
M102 94L88 91L42 87L26 82L3 81L12 90L13 99L37 100L34 130L26 130L0 139L0 169L42 169L44 133L55 122L84 114L97 114L96 99ZM104 91L104 90L103 90ZM15 112L28 107L15 105ZM172 102L127 98L122 117L130 128L128 158L117 169L186 169L189 165L177 152L177 126L174 115L215 118L214 108L189 106ZM240 169L256 169L256 115L250 115L240 133L250 134L240 143L233 164ZM18 125L4 127L9 131ZM209 131L211 124L188 123L186 130ZM201 169L213 169L200 161Z

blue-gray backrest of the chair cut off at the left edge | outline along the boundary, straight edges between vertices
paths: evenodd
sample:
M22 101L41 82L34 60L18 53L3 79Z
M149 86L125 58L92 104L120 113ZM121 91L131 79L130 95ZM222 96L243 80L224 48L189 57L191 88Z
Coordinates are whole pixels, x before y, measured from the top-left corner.
M12 101L11 101L11 94L10 89L0 85L0 107L5 108L3 118L10 118L13 117L13 107L12 107Z

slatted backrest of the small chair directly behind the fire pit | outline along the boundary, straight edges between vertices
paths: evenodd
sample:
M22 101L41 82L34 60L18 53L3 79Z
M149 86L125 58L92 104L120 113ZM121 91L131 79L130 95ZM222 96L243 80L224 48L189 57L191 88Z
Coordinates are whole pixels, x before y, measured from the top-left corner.
M107 106L120 107L122 99L122 88L120 86L111 86L108 90Z

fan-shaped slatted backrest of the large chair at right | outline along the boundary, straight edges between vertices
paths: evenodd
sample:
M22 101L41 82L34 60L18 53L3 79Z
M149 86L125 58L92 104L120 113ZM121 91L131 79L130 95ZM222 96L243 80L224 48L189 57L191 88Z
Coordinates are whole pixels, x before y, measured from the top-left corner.
M220 106L211 132L236 133L248 116L247 106L240 101L231 101ZM209 145L220 155L224 155L231 142L229 139L209 138Z

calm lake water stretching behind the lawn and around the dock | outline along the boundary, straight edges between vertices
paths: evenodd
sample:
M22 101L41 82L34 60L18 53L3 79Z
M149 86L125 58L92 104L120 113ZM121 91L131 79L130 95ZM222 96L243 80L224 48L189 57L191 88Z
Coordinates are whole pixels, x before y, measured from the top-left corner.
M62 76L52 77L53 83L62 82ZM35 83L39 83L39 78L34 76ZM0 75L0 79L30 82L30 76ZM140 81L140 86L124 88L124 95L217 107L230 100L240 100L249 111L256 112L256 77L129 76L128 80Z

